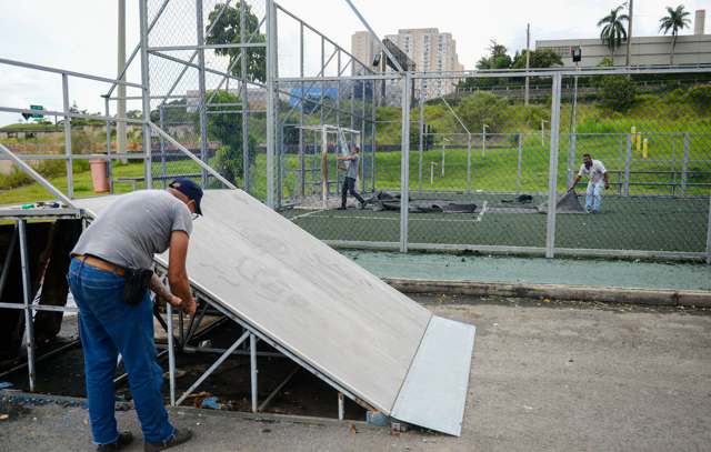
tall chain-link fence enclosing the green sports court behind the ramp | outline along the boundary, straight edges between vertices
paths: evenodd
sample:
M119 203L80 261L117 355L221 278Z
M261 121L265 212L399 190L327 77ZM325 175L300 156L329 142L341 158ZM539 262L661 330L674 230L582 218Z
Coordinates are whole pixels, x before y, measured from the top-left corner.
M113 88L102 137L70 131L72 152L107 154L112 189L222 187L207 164L341 247L711 252L709 68L383 72L271 0L147 7L132 135L119 145ZM51 148L34 141L6 139ZM88 164L42 159L47 175Z

